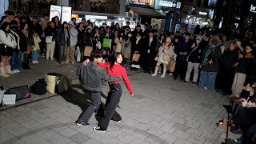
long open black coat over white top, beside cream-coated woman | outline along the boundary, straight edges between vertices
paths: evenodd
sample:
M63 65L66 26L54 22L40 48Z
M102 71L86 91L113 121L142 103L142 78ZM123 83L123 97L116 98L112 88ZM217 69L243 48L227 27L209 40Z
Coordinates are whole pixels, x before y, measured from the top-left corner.
M145 38L142 45L142 64L152 65L154 62L155 49L157 47L157 39L153 38L150 43L150 38Z

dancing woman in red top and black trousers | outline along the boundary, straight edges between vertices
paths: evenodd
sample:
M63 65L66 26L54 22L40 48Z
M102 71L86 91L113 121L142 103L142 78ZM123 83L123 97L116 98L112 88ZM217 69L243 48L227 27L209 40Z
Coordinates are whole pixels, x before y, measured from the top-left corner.
M134 96L133 88L130 84L130 80L126 74L126 68L121 65L122 63L122 54L114 54L114 58L110 59L110 62L107 63L98 63L98 66L101 66L103 69L107 70L107 73L111 76L122 77L123 81L126 84L127 89L130 91L131 96ZM98 127L94 127L94 130L100 132L106 132L107 127L110 124L110 120L114 115L115 109L120 102L122 95L122 87L120 82L110 82L110 92L106 98L106 106L104 109L104 116L102 122L98 122Z

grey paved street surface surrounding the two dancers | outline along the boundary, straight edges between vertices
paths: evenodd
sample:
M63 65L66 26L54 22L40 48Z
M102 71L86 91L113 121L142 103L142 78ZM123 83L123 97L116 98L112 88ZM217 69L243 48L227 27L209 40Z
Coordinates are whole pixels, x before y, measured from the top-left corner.
M31 70L0 78L5 87L31 85L48 72L72 76L73 90L63 95L47 93L32 95L18 104L0 111L0 143L59 143L59 144L220 144L226 133L216 126L226 117L227 98L213 90L200 90L192 84L184 85L172 77L151 77L150 74L128 70L134 87L131 97L122 83L122 98L118 113L123 122L110 122L105 134L92 130L98 122L94 115L90 127L76 126L74 121L89 106L89 97L75 78L74 66L60 66L42 59ZM106 100L108 86L102 89L102 102ZM52 96L51 96L52 95ZM42 100L38 100L44 98ZM31 102L38 100L36 102Z

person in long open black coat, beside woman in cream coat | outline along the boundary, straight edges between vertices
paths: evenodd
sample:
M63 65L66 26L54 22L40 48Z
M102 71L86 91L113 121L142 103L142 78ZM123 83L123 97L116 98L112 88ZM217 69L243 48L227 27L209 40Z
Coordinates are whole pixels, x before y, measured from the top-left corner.
M155 56L155 50L157 47L157 39L154 38L153 30L149 31L149 36L144 39L142 47L142 66L144 68L144 73L151 74L153 71L153 62Z

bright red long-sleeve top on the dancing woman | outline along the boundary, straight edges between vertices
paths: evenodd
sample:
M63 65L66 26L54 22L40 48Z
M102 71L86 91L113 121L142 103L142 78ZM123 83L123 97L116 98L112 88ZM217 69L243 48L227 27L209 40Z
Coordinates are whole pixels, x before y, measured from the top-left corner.
M115 64L112 69L110 69L110 63L98 63L98 66L101 66L103 69L107 70L107 73L114 77L121 77L123 81L126 83L126 87L129 90L130 94L134 94L133 87L130 84L130 80L126 74L126 68L121 65ZM111 82L112 83L121 83L121 82Z

